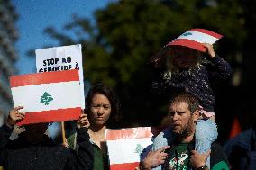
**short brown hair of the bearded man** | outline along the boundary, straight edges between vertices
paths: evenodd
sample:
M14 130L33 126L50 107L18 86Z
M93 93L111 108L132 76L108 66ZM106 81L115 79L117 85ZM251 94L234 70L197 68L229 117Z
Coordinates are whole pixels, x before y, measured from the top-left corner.
M169 101L169 105L173 103L178 102L185 102L188 104L188 110L191 113L196 112L199 109L199 101L197 97L193 94L190 94L188 92L181 92L178 94L175 94Z

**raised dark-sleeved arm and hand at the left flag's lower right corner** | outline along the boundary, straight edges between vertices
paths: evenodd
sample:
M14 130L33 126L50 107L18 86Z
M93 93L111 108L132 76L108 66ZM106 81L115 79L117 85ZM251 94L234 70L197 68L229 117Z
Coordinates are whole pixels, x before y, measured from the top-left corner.
M81 114L77 124L77 142L78 154L69 148L72 152L68 157L65 169L76 170L93 170L94 168L94 149L89 141L90 137L87 133L89 122L87 114Z

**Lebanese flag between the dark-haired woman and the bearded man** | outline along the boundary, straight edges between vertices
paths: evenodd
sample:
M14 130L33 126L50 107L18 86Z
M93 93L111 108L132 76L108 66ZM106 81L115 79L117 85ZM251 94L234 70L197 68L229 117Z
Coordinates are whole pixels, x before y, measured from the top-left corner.
M134 170L151 150L152 137L157 132L152 127L105 132L111 170Z

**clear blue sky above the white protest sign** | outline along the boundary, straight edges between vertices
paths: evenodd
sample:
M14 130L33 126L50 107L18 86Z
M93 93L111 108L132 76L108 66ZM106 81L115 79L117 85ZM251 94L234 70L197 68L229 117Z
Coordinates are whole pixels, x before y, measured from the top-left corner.
M12 0L19 19L16 28L20 33L15 43L19 59L18 74L35 73L35 59L26 56L28 50L42 49L46 45L58 46L43 33L43 29L53 26L63 31L65 23L72 21L72 14L93 19L96 9L104 8L113 0Z

